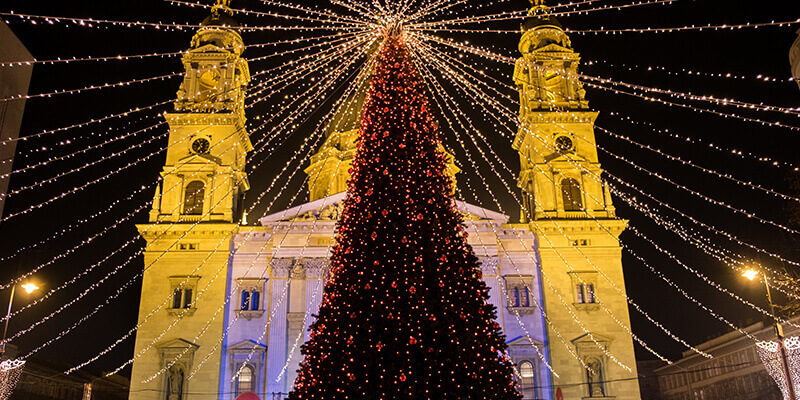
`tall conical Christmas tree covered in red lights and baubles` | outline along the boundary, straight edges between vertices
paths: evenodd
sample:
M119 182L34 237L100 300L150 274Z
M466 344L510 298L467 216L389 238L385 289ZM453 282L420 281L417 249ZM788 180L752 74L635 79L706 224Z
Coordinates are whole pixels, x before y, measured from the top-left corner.
M379 51L330 276L289 399L519 399L449 198L424 83L402 38Z

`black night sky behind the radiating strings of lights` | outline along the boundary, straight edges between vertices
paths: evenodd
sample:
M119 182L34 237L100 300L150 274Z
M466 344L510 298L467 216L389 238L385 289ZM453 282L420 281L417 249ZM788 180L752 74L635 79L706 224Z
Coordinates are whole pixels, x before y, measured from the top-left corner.
M209 1L206 1L209 3ZM315 2L316 3L316 2ZM468 4L484 4L485 2L469 1ZM590 6L629 4L625 0L604 0ZM327 3L326 3L327 4ZM234 1L234 8L245 8L255 11L271 11L272 9L256 0ZM458 15L492 14L502 11L527 9L529 4L524 0L498 1L483 8L474 10L458 10ZM7 0L0 6L0 12L47 15L58 17L83 17L108 19L117 21L176 22L196 24L205 18L207 11L200 8L189 8L171 5L167 1L140 0L133 2L110 1L18 1ZM573 30L599 28L645 28L645 27L679 27L686 25L721 25L763 23L770 21L792 21L800 17L800 9L793 1L734 1L734 0L677 0L669 5L647 5L626 8L623 10L594 11L585 15L570 15L560 18L565 27ZM280 19L255 17L252 15L237 17L246 25L288 25ZM87 56L116 56L148 53L171 53L184 51L189 46L192 30L142 29L127 27L90 28L77 27L74 24L56 22L54 24L31 24L17 17L4 18L12 30L27 46L29 51L39 60ZM307 24L306 26L311 26ZM500 30L518 29L519 20L501 20L480 25L468 25L470 28L491 28ZM800 90L795 82L789 81L790 70L788 53L792 42L797 37L798 24L783 27L761 27L758 29L739 30L703 30L671 33L622 33L606 34L572 34L573 47L583 56L581 71L590 76L610 78L642 86L670 89L680 92L691 92L696 95L713 95L722 98L734 98L750 103L763 103L781 107L798 107ZM321 33L322 32L322 33ZM330 31L261 31L243 34L246 44L269 43L278 40L304 37L310 35L330 34ZM469 40L475 46L488 46L509 57L518 57L516 50L520 38L519 33L439 33L441 36L459 40ZM246 58L255 58L270 53L290 49L290 46L273 46L251 48L245 52ZM292 58L274 57L265 61L250 64L252 72L271 68ZM465 62L475 63L491 76L513 84L509 77L513 66L484 61L475 57L466 57ZM478 64L482 63L482 64ZM648 67L652 67L649 70ZM0 67L2 68L2 67ZM666 71L679 72L679 75L667 74ZM689 74L688 71L692 71ZM745 79L698 76L695 72L706 74L728 74L744 76ZM37 65L34 68L30 94L47 93L54 90L77 89L103 83L122 82L144 79L182 72L178 57L151 57L145 59L107 62L80 62L56 65ZM761 78L757 78L761 76ZM764 77L775 81L765 81ZM82 123L91 119L117 114L136 107L145 107L174 99L180 83L179 78L156 80L135 85L86 91L79 94L58 95L49 98L30 99L26 105L25 118L21 135L27 136L44 130L51 130ZM255 81L253 82L256 83ZM668 107L657 102L644 101L640 98L613 94L599 89L587 89L587 98L593 109L600 111L597 125L616 134L660 149L664 153L680 157L685 161L728 174L741 181L752 182L764 188L797 196L792 188L792 172L794 165L800 165L797 146L800 140L798 130L780 127L768 127L762 124L745 122L734 118L714 116L708 112ZM445 88L448 93L457 95L453 88ZM249 108L248 118L253 123L260 123L257 117L267 118L270 107L284 95L296 94L297 89L288 90L275 98L265 99L255 107ZM513 92L510 93L514 95ZM335 97L335 96L334 96ZM758 118L765 121L781 122L786 125L800 127L800 118L796 115L785 115L776 112L745 111L732 107L720 107L709 103L690 102L684 99L662 96L664 100L701 107L708 110ZM311 114L305 123L292 131L273 133L280 138L288 137L285 144L273 152L262 152L251 161L250 182L253 189L246 201L252 204L258 195L267 187L298 149L303 139L310 134L319 118L330 110L330 103L321 105ZM462 104L464 112L476 121L483 117L469 104ZM136 132L160 121L159 113L170 109L162 106L131 115L117 118L89 127L70 129L42 137L20 141L17 148L15 169L37 164L51 157L64 156L81 151L106 140ZM516 111L516 110L514 110ZM459 154L460 147L453 140L453 135L442 124L448 147L455 153L456 159L464 172L459 180L469 180L472 187L482 187L477 174L468 161ZM493 131L488 122L478 123L481 131L487 135L501 157L509 167L518 171L519 161L516 152L511 149L511 140ZM47 263L59 255L69 252L67 256L58 258L51 265L43 268L35 277L44 289L52 289L89 266L109 257L112 252L133 240L127 247L88 272L74 285L59 291L50 299L26 310L11 321L10 333L42 319L61 305L69 302L81 292L102 279L117 266L123 265L134 251L144 245L143 240L135 240L137 236L135 223L147 222L147 211L152 200L153 188L149 186L155 181L164 162L164 152L150 156L153 152L164 149L165 138L157 138L166 132L166 126L146 130L129 138L90 150L65 161L50 163L36 168L31 173L20 173L12 177L10 191L50 179L74 168L90 164L104 157L127 150L123 155L94 164L78 173L59 178L54 183L42 185L31 190L11 196L6 203L5 215L23 211L32 205L47 201L66 191L81 187L87 182L104 176L108 178L87 186L75 194L53 201L52 204L37 208L31 212L11 218L0 223L0 282L7 283L13 277L30 271L32 268ZM668 131L669 133L664 133ZM266 130L252 135L253 141L261 139ZM754 212L759 217L782 225L791 224L787 212L788 203L775 196L761 191L751 190L745 186L725 181L711 174L670 161L655 153L638 148L624 140L597 132L598 145L607 150L599 150L603 167L623 181L637 187L661 202L668 203L681 212L692 216L715 229L725 231L742 241L752 243L768 253L781 254L784 258L800 261L798 236L759 223L754 218L747 218L730 210L710 204L700 197L689 194L669 183L637 170L631 164L615 157L624 157L632 164L638 165L678 185L702 193L715 200L725 202L737 209ZM153 139L155 138L155 139ZM690 140L686 140L690 138ZM150 140L153 139L153 140ZM67 143L69 141L69 143ZM149 141L149 142L148 142ZM713 144L724 151L716 150ZM732 150L741 151L742 156L732 154ZM473 151L473 153L475 153ZM751 153L756 157L750 157ZM611 155L613 154L613 155ZM149 156L149 157L148 157ZM266 157L269 156L267 159ZM759 161L757 157L766 157L771 161ZM779 166L772 164L779 161ZM261 164L263 162L263 164ZM133 165L132 164L135 163ZM261 164L259 168L255 165ZM303 167L307 165L304 164ZM790 166L791 165L791 166ZM121 172L113 173L120 168ZM296 168L296 163L289 171ZM494 177L485 163L479 161L479 171L489 182L489 187L500 199L503 210L517 220L519 207ZM109 175L111 174L111 175ZM279 197L270 212L282 210L291 204L289 200L300 188L304 174L299 173L291 182L280 181L278 188L286 186L286 193ZM507 180L515 187L512 179ZM147 188L135 193L143 186ZM676 220L684 226L690 223L679 215L665 211L654 201L632 189L625 192L635 195L638 200L645 201L654 210L669 220ZM262 215L267 204L278 194L273 190L264 196L262 204L255 207L249 220ZM497 209L486 190L478 190L479 205L489 209ZM129 199L130 196L130 199ZM474 202L471 195L467 200ZM113 209L111 204L118 202ZM294 205L306 201L299 196ZM88 246L72 252L70 249L93 237L104 229L114 225L128 213L145 206L132 218L119 223L107 234L94 239ZM763 286L744 281L729 266L705 255L696 246L685 242L657 225L652 219L627 206L624 201L615 197L618 216L629 219L643 235L652 239L664 250L673 254L690 267L706 274L724 287L734 291L759 306L765 306ZM101 213L102 215L92 217ZM77 224L79 220L92 218L89 223ZM71 225L78 225L70 233L49 239ZM796 226L794 228L797 228ZM698 228L704 237L737 258L746 258L768 265L770 268L790 271L791 265L783 265L779 260L758 254L752 249L736 245L715 236L707 230ZM18 249L27 247L42 240L46 244L26 250L16 257L8 259ZM745 326L759 320L762 316L752 309L736 302L731 297L721 294L693 274L686 272L670 257L656 250L650 243L632 232L623 234L626 246L644 258L648 264L663 272L677 282L687 293L691 294L710 308L739 326ZM623 265L626 273L626 287L630 297L639 303L644 310L660 321L673 333L689 343L696 344L711 336L727 331L727 327L713 319L706 312L681 297L673 288L656 278L650 271L629 253L624 254ZM43 342L54 338L62 330L72 326L84 315L92 312L99 304L113 296L118 288L134 279L141 272L141 257L132 260L108 281L92 290L88 296L69 307L60 315L53 317L41 326L32 330L13 343L23 353L30 351ZM17 272L19 271L19 272ZM100 312L89 318L63 339L45 347L37 353L37 357L57 360L66 364L77 364L93 357L111 345L117 338L136 324L140 281L134 280L122 292L119 298L111 301ZM7 291L0 293L6 298ZM5 300L3 300L5 301ZM17 297L16 308L21 307L29 299ZM776 297L776 301L786 299ZM5 303L2 303L5 304ZM662 354L675 358L685 350L681 345L664 335L658 328L645 320L640 314L631 312L633 330L654 349ZM109 370L129 359L133 354L133 339L130 338L117 346L111 353L102 357L88 368L94 371ZM651 354L637 347L640 359L653 358ZM129 373L128 370L124 371Z

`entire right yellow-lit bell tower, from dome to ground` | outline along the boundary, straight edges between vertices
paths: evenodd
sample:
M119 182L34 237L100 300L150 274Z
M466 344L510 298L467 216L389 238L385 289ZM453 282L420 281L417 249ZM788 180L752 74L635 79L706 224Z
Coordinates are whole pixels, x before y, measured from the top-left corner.
M549 351L559 375L551 395L560 388L570 399L639 400L619 243L627 221L616 218L601 178L598 113L589 109L569 36L544 0L531 3L514 71L520 129L513 147L521 221L538 239Z

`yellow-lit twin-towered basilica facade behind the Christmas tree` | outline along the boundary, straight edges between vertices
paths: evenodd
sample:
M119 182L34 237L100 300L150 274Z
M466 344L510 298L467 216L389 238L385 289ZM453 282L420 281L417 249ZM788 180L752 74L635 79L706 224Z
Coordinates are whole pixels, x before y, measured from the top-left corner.
M638 400L616 218L594 145L597 113L580 56L544 5L523 24L519 223L454 201L479 257L525 399ZM194 36L147 240L132 400L278 399L322 299L355 155L363 90L344 101L312 157L309 202L251 225L242 198L244 44L224 5ZM369 76L362 79L367 87ZM458 167L449 156L449 172ZM256 397L253 397L256 396Z

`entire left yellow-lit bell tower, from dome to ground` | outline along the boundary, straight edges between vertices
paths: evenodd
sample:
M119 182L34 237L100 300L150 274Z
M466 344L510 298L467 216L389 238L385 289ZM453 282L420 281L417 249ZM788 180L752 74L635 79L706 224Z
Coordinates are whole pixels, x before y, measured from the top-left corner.
M130 399L218 398L231 240L249 189L244 44L218 0L183 56L149 223ZM191 378L190 378L191 377Z

